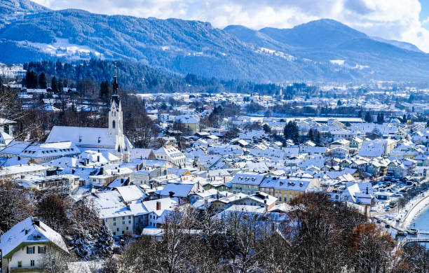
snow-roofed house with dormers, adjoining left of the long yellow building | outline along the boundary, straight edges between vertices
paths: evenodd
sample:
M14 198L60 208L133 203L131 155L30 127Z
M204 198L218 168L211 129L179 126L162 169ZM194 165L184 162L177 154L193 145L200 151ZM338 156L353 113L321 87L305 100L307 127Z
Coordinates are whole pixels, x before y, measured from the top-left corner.
M231 192L252 195L259 191L259 185L267 174L257 174L252 172L237 173L231 181Z

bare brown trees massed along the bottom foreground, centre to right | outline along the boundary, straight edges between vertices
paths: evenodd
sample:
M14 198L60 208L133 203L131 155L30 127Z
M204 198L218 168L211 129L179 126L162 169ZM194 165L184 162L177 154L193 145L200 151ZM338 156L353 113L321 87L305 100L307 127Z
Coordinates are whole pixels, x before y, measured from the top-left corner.
M131 240L102 272L427 272L429 251L395 250L392 237L356 209L306 193L280 216L189 205L165 218L161 237Z

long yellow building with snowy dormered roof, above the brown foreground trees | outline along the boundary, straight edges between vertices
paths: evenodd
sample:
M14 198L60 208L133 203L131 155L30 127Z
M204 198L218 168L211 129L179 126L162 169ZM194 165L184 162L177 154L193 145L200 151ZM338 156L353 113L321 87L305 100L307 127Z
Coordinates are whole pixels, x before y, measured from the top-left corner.
M273 195L278 199L278 204L289 203L294 198L303 193L307 193L312 188L319 188L320 181L307 177L285 177L268 176L259 185L262 193Z

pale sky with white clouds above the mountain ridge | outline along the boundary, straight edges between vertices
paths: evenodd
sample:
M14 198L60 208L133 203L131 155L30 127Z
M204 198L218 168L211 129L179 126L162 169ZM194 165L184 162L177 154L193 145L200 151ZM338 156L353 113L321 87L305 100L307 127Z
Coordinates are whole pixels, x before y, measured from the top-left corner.
M214 27L290 28L330 18L429 52L429 0L33 0L52 9L201 20Z

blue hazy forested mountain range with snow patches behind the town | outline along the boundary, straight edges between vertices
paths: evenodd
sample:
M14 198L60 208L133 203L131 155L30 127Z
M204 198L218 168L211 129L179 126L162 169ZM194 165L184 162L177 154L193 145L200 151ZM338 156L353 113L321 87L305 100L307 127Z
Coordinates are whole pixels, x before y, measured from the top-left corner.
M291 29L224 29L208 22L0 3L0 62L123 59L157 69L260 83L426 81L429 55L322 19Z

